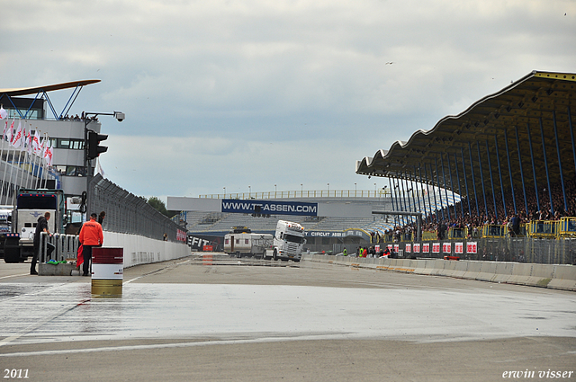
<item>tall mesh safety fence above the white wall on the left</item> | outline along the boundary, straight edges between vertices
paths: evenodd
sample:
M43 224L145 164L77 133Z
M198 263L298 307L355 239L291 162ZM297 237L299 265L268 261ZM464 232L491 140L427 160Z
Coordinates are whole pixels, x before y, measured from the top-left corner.
M151 239L185 241L185 232L173 220L140 198L97 174L90 182L87 213L106 213L103 228L120 234Z

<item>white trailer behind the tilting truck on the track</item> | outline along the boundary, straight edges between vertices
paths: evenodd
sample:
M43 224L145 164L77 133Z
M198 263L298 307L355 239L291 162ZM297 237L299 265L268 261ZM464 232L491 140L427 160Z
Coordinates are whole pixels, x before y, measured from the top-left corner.
M233 227L229 234L224 235L224 252L236 257L251 257L257 259L266 255L266 249L272 247L270 234L254 234L246 227Z

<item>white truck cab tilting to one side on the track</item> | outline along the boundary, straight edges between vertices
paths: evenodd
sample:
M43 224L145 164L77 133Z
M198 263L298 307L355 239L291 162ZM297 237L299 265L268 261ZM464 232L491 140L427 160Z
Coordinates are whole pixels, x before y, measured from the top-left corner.
M306 239L304 238L304 227L302 225L291 221L278 220L274 243L271 248L266 249L265 259L300 262L304 244L306 244Z

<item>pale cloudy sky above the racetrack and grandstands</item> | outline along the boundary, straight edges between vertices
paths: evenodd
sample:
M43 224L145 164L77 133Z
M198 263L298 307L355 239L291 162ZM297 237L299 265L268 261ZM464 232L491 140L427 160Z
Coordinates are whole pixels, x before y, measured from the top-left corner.
M532 70L576 72L574 0L9 3L0 88L102 80L71 111L126 113L101 118L101 161L141 196L374 190L356 160Z

